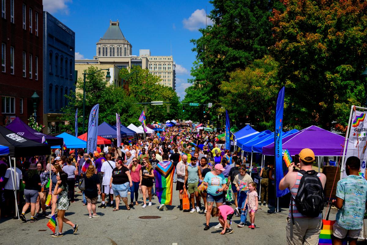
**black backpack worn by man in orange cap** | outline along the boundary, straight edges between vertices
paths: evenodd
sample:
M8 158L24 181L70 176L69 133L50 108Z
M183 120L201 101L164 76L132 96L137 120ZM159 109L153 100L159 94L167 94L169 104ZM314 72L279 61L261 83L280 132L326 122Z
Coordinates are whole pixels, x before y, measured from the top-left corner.
M317 217L324 209L324 189L321 184L321 180L317 177L315 170L304 171L300 170L302 178L299 182L297 195L294 200L295 205L299 213L307 217ZM292 222L293 219L293 205L291 204Z

